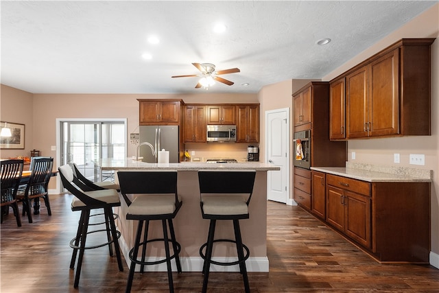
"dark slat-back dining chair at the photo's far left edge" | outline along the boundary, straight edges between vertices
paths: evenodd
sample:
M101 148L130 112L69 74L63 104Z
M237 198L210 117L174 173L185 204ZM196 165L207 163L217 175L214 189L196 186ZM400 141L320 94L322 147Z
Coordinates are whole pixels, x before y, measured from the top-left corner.
M1 161L1 202L0 214L3 223L3 213L7 213L12 207L17 226L21 227L19 205L16 203L16 191L19 189L21 175L23 173L23 160Z

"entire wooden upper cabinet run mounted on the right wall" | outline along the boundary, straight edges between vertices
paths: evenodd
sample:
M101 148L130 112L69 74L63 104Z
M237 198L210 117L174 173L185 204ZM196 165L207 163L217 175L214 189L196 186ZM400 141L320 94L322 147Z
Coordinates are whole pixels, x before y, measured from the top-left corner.
M403 38L330 82L330 138L431 135L431 44Z

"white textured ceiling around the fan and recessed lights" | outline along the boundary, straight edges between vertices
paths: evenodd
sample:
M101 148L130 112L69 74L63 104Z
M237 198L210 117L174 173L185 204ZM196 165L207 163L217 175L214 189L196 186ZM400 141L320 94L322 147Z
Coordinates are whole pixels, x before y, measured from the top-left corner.
M210 62L241 72L209 93L257 93L322 78L435 3L1 1L1 83L31 93L202 93L198 78L171 75ZM213 33L218 22L226 32ZM322 38L332 42L316 45Z

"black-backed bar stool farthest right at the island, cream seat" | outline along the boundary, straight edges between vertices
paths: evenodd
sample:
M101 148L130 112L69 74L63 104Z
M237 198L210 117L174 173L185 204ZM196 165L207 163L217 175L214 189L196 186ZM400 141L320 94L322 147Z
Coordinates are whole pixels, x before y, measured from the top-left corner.
M204 259L202 292L207 290L211 263L219 266L239 264L239 271L244 279L244 288L246 292L250 292L246 269L246 259L250 255L250 250L242 243L239 220L250 218L248 204L252 198L255 176L254 170L200 170L198 172L202 218L210 220L207 242L200 247L200 256ZM233 221L235 240L214 239L217 220ZM238 260L230 262L212 260L213 244L217 242L235 243ZM206 248L205 253L203 253L204 248ZM245 255L244 250L246 250Z

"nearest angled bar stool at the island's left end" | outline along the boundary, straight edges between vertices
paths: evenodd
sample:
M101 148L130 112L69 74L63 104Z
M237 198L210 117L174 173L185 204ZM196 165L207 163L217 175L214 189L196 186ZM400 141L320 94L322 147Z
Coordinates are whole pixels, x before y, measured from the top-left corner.
M81 211L80 222L78 224L76 237L71 239L70 242L70 247L73 248L70 268L75 267L78 250L80 252L80 255L78 257L78 265L76 266L75 281L73 283L73 287L78 288L82 268L82 259L84 257L84 252L87 249L99 248L108 245L108 248L110 250L110 256L112 256L111 245L114 244L116 250L117 264L119 265L119 271L123 272L121 252L119 248L119 237L121 236L121 233L116 230L115 217L112 213L112 207L119 207L121 205L121 202L119 200L119 194L115 189L82 191L72 184L73 170L71 169L70 165L62 165L61 167L58 167L58 170L60 172L59 174L63 187L67 189L71 194L73 194L71 210ZM91 210L93 209L104 209L105 220L104 222L97 224L105 224L105 229L88 231L88 226L96 225L89 224L88 222L90 218L93 217L93 215L91 215ZM107 242L94 246L86 246L87 235L101 231L106 231Z

